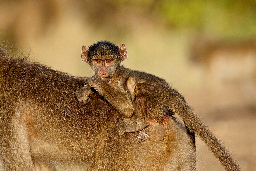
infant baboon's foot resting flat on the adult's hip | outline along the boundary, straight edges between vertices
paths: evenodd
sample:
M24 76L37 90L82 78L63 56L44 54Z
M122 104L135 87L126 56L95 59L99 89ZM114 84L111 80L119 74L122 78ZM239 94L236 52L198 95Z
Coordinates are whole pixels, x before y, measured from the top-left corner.
M122 135L126 132L138 132L143 130L147 124L147 122L143 122L138 119L132 121L130 118L125 118L116 124L115 130L119 135Z

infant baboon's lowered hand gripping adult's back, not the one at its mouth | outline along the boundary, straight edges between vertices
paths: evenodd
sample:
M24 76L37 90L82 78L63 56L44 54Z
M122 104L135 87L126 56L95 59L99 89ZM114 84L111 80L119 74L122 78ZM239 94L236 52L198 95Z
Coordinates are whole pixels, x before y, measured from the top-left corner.
M87 99L91 94L93 94L93 91L91 90L91 86L89 84L86 84L81 89L77 89L75 92L77 100L83 104L87 103Z

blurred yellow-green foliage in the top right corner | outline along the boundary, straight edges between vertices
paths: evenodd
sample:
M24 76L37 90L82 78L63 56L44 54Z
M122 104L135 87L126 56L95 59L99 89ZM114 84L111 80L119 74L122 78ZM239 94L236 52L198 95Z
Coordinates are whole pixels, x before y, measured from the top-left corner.
M256 35L254 0L163 0L158 1L156 8L173 28L238 39Z

